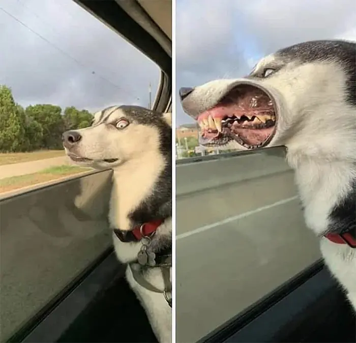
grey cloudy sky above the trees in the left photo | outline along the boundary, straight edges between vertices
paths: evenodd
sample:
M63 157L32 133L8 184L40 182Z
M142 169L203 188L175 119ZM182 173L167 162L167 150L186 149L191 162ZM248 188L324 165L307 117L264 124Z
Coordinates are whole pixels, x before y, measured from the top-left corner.
M158 66L72 0L0 0L0 33L0 84L23 106L147 107L150 82L154 100Z

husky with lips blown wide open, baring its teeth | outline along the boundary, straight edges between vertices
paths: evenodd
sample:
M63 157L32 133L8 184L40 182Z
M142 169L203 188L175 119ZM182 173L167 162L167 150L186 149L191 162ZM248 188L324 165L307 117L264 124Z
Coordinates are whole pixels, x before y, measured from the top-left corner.
M356 44L296 44L180 98L203 146L287 148L307 226L356 309Z

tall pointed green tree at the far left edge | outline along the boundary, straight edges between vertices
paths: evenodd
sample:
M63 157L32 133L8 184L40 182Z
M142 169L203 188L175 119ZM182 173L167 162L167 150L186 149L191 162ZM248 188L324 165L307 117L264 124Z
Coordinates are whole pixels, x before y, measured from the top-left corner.
M0 85L0 151L16 152L25 149L24 116L15 103L12 91Z

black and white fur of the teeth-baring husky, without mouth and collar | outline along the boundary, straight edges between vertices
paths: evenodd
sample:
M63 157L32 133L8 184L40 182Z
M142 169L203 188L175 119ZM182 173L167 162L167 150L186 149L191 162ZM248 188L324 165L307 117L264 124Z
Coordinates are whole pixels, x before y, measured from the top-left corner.
M356 44L324 40L281 49L245 78L194 88L183 108L196 118L246 80L277 102L276 133L268 146L287 147L306 223L320 237L323 258L356 310L356 249L323 237L356 230ZM235 141L225 148L246 150Z

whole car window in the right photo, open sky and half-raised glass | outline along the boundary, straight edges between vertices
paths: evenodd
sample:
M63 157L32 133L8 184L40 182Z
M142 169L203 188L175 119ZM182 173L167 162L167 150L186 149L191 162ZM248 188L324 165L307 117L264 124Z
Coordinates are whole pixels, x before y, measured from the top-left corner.
M294 43L355 41L351 3L177 0L176 89L243 77L264 55ZM196 125L180 104L176 123L177 160L194 156L187 151L197 145ZM210 333L320 256L284 148L220 154L177 163L180 343Z

